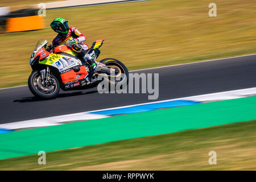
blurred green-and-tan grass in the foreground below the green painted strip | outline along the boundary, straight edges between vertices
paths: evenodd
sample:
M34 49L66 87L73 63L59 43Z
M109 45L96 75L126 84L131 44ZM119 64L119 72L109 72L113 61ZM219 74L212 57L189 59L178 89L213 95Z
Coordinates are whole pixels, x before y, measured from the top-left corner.
M0 160L0 170L255 170L256 122L121 140ZM209 151L217 164L209 165Z

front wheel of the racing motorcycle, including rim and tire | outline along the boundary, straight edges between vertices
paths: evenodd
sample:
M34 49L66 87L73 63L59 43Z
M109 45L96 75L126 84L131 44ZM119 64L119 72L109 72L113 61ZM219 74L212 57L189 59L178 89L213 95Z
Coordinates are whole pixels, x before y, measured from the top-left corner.
M45 83L42 79L39 71L33 71L28 78L28 88L34 94L34 96L43 98L45 100L51 99L57 96L60 92L60 83L57 78L49 74L50 80Z

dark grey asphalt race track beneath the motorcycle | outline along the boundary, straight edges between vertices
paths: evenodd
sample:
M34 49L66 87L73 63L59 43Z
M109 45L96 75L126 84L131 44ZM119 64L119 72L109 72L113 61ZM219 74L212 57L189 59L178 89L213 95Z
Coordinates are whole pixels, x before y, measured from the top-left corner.
M145 69L132 73L159 73L159 98L196 96L256 86L256 55L201 63ZM24 121L82 111L141 104L146 94L100 94L97 88L61 91L53 100L35 98L27 86L0 90L0 123Z

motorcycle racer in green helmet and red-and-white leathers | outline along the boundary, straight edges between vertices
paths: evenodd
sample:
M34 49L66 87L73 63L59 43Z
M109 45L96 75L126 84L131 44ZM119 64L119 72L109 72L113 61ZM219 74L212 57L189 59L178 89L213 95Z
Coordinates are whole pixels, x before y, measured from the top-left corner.
M85 35L81 34L77 28L69 27L68 21L64 18L55 18L50 26L53 31L58 33L56 38L52 41L53 47L67 45L72 48L73 51L79 53L83 61L89 65L88 81L90 81L97 67L97 62L87 53L88 51L86 51L89 47L87 44L83 43L86 40ZM97 50L95 53L98 56L100 51Z

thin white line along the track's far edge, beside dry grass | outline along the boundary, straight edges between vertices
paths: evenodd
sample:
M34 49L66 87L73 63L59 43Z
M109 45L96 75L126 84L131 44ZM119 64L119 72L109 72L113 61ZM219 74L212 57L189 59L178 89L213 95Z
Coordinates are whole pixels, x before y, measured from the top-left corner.
M253 53L253 54L251 54L251 55L224 57L224 58L220 58L220 59L211 59L211 60L205 60L205 61L197 61L197 62L193 62L193 63L183 63L183 64L167 65L167 66L163 66L163 67L135 69L135 70L131 70L131 71L129 71L129 72L143 71L143 70L148 70L148 69L158 69L158 68L176 67L176 66L180 66L180 65L196 64L196 63L205 63L205 62L209 62L209 61L225 60L225 59L232 59L232 58L236 58L236 57L255 56L255 55L256 55L256 53ZM27 85L22 85L22 86L27 86ZM2 89L0 89L0 90L3 90L3 89L12 89L12 88L17 88L17 87L21 87L21 86L14 86L14 87L9 87L9 88L2 88Z

